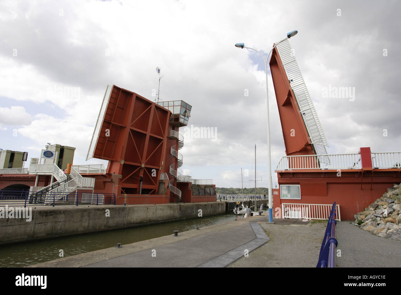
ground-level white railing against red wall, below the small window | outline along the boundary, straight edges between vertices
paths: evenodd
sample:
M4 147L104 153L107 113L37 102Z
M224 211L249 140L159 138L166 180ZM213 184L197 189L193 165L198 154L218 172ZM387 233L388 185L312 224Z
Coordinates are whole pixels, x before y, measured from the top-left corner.
M302 218L304 220L324 220L330 217L333 204L282 203L283 218ZM341 221L340 205L336 204L336 220Z

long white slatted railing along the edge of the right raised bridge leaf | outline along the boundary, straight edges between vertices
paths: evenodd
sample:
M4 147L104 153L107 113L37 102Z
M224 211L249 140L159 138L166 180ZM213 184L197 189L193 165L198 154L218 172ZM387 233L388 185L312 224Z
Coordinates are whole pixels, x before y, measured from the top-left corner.
M276 48L283 62L291 88L295 94L314 151L316 155L326 155L326 146L328 146L327 139L324 135L318 115L316 114L308 89L306 88L298 63L294 57L290 42L288 42L287 39L279 43ZM322 162L328 161L326 157L321 160Z

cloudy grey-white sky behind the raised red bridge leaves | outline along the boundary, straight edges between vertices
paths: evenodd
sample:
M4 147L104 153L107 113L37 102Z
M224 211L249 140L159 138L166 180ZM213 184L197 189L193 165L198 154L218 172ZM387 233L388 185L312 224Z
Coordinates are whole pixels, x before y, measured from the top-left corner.
M192 105L188 126L217 128L215 138L187 134L181 173L241 187L242 167L253 187L256 144L257 186L267 187L264 65L234 44L267 53L298 30L290 44L328 153L401 151L400 9L397 1L3 0L0 148L30 158L57 143L77 148L75 165L107 165L85 161L107 84L154 100L160 67L160 99ZM325 97L329 85L354 87L354 99ZM285 148L270 73L269 110L274 171Z

